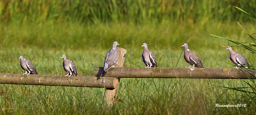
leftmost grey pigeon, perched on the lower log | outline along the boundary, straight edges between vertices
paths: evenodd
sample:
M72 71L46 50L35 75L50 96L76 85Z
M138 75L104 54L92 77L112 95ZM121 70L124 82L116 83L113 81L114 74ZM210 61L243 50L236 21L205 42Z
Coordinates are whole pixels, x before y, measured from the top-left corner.
M26 73L23 73L22 75L24 74L27 76L29 74L37 75L36 68L34 67L31 61L29 61L28 59L25 59L23 56L20 56L19 59L20 59L21 68L26 71Z

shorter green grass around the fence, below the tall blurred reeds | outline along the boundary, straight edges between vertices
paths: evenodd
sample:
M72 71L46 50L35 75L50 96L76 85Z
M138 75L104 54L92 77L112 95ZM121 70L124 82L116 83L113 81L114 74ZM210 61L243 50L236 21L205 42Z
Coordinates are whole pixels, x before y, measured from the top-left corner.
M249 23L248 33L255 32ZM144 67L142 43L155 53L159 67L175 67L181 45L188 33L189 49L204 67L230 68L229 52L221 45L234 45L210 34L246 42L237 23L132 25L80 23L2 24L0 35L0 72L24 73L19 56L32 61L39 74L65 75L62 54L75 62L79 76L93 76L96 66L103 66L106 52L114 41L127 50L124 67ZM248 39L249 41L250 39ZM234 47L254 64L254 54ZM183 54L182 54L183 56ZM177 67L188 64L181 57ZM112 111L101 109L104 88L0 85L2 114L230 114L254 113L255 100L238 91L222 87L248 87L243 81L220 79L121 79L117 101ZM171 84L170 84L171 82ZM249 81L250 82L250 81ZM141 88L140 88L141 86ZM142 90L140 90L142 89ZM140 95L141 94L141 95ZM215 107L215 104L247 104L246 107Z

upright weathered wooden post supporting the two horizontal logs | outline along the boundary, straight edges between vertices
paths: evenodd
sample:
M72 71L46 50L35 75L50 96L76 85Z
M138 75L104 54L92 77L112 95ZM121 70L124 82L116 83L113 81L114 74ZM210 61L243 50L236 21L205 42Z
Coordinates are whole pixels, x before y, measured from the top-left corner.
M126 55L126 50L124 48L118 48L118 59L116 63L114 64L115 67L123 67L124 66L124 58ZM111 69L109 69L111 70ZM105 77L111 77L108 76L108 72L106 73ZM107 104L109 109L113 106L113 104L116 102L116 95L119 87L120 78L118 78L118 83L116 84L116 88L106 88L104 97L103 97L103 103Z

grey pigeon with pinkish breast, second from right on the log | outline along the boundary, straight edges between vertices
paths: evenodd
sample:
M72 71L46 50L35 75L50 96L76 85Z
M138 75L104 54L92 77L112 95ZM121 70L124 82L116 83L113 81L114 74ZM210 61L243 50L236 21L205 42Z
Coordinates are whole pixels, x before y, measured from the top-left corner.
M190 51L188 49L188 44L184 43L181 47L184 47L184 59L185 61L191 66L193 65L193 67L186 67L189 68L191 70L194 70L194 66L198 67L198 68L204 68L203 64L201 62L201 59L192 51Z

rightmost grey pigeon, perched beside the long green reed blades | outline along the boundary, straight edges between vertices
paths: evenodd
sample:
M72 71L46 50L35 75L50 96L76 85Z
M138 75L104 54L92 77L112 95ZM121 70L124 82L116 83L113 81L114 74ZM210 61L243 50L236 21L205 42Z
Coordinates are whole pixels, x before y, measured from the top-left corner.
M249 65L249 63L247 62L247 60L243 57L242 54L237 53L235 51L232 50L232 48L230 46L228 46L226 48L226 50L229 50L229 54L230 54L230 60L235 64L235 65ZM239 68L239 67L235 67L235 68ZM244 67L244 68L248 68L248 67Z

